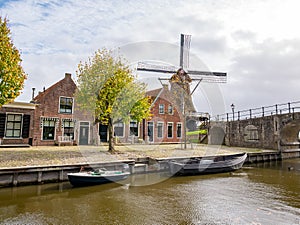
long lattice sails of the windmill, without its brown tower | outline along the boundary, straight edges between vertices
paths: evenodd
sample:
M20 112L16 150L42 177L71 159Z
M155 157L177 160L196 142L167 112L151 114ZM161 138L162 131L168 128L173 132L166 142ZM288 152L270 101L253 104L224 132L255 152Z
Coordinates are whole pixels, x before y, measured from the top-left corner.
M191 81L196 81L197 84L194 89L188 93L189 99L188 101L192 102L191 96L198 88L201 82L207 83L226 83L227 74L224 72L210 72L210 71L199 71L189 69L189 51L190 51L190 43L191 43L191 35L180 35L180 57L179 57L179 68L184 69ZM167 74L175 74L177 72L175 66L165 66L165 65L156 65L149 62L138 62L137 70L145 71L145 72L156 72L156 73L167 73ZM162 81L170 81L167 78L158 78L162 84ZM184 148L186 149L186 109L185 102L186 98L182 95L181 97L181 105L182 105L182 114L183 114L183 127L184 127ZM197 116L196 112L189 112L188 116Z

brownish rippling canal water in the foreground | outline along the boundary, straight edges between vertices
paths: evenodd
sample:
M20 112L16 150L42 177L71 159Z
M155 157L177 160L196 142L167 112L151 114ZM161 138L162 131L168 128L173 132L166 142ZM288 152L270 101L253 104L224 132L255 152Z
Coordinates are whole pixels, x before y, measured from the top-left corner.
M0 224L300 224L300 159L124 185L2 188Z

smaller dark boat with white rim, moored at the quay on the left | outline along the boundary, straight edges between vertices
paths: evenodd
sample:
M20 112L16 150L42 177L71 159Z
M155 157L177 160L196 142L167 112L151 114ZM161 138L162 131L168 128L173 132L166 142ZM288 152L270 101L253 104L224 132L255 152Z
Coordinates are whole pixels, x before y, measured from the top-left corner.
M129 172L95 170L89 172L68 173L68 178L73 186L88 186L118 182L125 180Z

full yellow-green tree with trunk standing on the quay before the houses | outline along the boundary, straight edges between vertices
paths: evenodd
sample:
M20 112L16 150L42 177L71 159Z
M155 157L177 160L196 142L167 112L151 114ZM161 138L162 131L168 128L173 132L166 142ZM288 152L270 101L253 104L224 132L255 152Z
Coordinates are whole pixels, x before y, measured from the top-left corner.
M78 65L76 102L94 113L95 123L108 125L109 151L114 152L113 124L140 122L150 117L150 98L146 86L138 82L121 57L112 51L98 50L88 62Z

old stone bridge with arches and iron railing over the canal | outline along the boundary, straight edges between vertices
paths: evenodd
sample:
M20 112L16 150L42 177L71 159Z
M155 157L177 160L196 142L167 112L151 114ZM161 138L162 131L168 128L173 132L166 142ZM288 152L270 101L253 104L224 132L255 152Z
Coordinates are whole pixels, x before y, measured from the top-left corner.
M259 108L259 113L250 109L247 114L233 110L223 119L218 116L211 120L209 143L280 151L299 149L300 102L275 105L274 110L266 108L270 107Z

